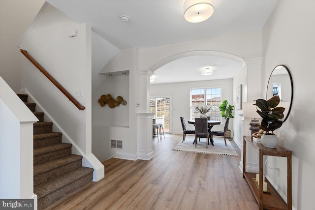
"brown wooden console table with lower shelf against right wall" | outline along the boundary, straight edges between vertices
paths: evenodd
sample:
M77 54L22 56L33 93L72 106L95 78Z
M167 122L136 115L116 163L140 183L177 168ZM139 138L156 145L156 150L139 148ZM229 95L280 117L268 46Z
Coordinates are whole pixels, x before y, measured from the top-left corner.
M255 173L249 173L245 171L246 164L246 143L249 143L253 147L259 149L259 186L263 185L263 155L279 156L287 158L287 204L280 197L277 191L269 183L268 188L271 193L264 193L263 188L256 187L252 178L256 178ZM250 185L252 193L259 204L259 210L292 210L292 152L285 150L282 147L266 148L262 144L257 144L252 141L251 137L244 136L243 139L243 178L245 178Z

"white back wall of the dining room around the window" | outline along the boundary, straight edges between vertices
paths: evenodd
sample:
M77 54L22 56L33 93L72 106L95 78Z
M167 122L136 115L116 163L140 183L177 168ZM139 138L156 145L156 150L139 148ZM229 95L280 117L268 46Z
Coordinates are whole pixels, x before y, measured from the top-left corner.
M187 129L194 129L194 126L187 122L190 116L190 89L212 87L222 87L222 100L227 100L229 104L233 104L233 79L150 85L150 95L171 96L172 110L170 114L172 118L172 133L182 134L183 128L180 117L185 118ZM233 130L233 121L231 119L229 122L229 129L231 130ZM213 129L223 130L224 122L223 119L222 124L215 125Z

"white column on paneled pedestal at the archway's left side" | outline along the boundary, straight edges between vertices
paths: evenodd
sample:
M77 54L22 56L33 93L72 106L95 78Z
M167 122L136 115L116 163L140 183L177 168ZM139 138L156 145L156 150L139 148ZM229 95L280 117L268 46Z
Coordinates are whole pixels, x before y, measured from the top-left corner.
M138 159L150 160L153 156L152 146L152 117L150 113L150 76L153 72L150 70L138 71L138 92L139 99L137 104L137 144Z

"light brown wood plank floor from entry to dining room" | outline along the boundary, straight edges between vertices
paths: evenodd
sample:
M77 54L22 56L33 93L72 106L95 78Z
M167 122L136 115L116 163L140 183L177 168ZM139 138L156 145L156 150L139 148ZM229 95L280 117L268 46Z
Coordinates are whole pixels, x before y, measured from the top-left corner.
M173 134L159 142L154 139L155 156L150 161L103 162L104 179L47 210L259 209L240 172L240 157L173 151L181 139L182 135Z

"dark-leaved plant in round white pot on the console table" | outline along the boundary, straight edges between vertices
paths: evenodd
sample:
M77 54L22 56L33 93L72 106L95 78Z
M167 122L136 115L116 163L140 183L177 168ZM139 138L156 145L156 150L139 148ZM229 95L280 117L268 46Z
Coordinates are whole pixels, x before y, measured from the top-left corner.
M269 100L257 99L254 104L260 110L257 109L257 113L262 118L260 129L266 133L261 136L261 143L268 148L275 148L278 145L279 139L274 134L274 130L280 128L284 119L284 107L277 107L280 103L280 97L278 95L273 96Z

